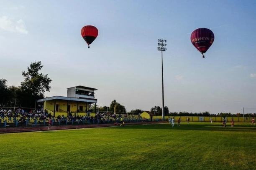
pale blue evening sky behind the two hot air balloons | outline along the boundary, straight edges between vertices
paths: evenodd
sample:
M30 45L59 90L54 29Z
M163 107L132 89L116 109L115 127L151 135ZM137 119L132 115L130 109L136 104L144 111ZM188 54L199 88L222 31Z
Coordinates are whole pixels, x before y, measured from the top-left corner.
M100 106L116 99L150 110L162 102L160 38L170 111L242 112L256 107L255 9L254 0L2 0L0 78L20 85L41 60L53 80L48 97L84 85L98 89ZM99 30L90 49L85 25ZM190 42L197 28L215 34L204 59Z

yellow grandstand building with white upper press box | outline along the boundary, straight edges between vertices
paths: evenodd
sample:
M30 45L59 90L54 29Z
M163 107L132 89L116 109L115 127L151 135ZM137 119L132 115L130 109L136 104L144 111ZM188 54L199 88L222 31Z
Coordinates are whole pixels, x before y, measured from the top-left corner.
M84 86L70 87L67 90L67 97L53 96L37 100L37 102L44 102L44 110L55 117L67 116L68 112L86 113L91 104L97 103L95 90L97 89Z

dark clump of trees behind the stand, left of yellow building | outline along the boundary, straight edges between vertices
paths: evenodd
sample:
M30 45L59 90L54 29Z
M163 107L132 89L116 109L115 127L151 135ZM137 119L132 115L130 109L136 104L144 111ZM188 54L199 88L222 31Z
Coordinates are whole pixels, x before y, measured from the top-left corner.
M19 86L8 86L6 79L0 79L0 105L34 108L36 100L44 98L44 92L51 88L52 80L47 74L39 73L43 67L41 61L31 62L27 71L22 72L24 81Z

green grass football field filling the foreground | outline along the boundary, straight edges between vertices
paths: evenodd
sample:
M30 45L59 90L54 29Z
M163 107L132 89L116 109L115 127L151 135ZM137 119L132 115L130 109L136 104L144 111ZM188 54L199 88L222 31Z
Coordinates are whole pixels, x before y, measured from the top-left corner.
M0 135L0 170L253 170L256 126L191 122Z

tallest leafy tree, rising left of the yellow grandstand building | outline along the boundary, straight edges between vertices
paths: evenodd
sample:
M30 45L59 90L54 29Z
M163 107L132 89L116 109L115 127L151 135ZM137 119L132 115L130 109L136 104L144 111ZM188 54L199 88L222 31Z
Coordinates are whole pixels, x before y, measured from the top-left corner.
M22 107L34 107L35 101L44 98L44 92L50 91L52 80L47 74L39 73L43 67L41 61L31 62L28 70L22 72L25 80L20 83L20 91L17 93Z

